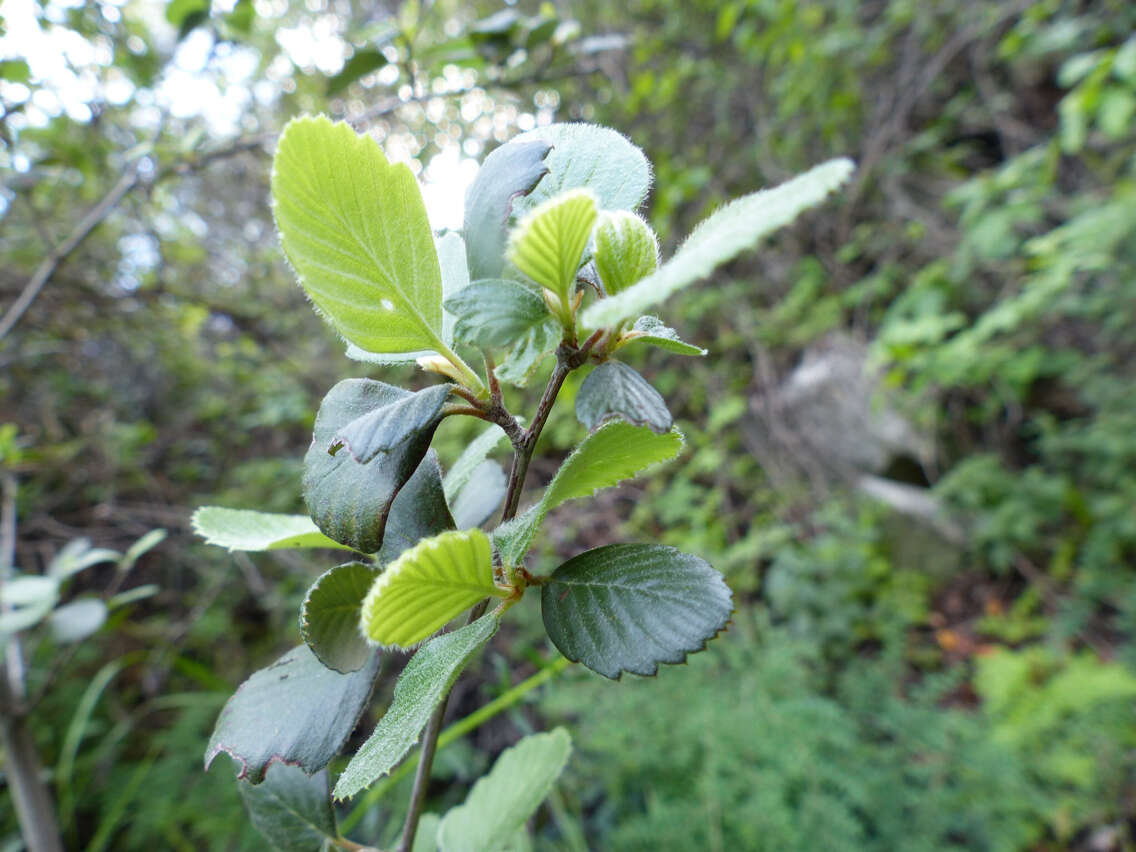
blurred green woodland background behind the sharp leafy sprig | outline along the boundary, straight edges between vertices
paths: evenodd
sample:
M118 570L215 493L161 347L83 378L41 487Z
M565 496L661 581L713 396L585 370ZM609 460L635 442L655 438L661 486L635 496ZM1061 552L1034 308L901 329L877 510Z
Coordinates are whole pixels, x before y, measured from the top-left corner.
M12 568L50 574L76 540L115 551L62 587L107 604L93 633L20 636L68 849L261 847L231 767L202 774L201 753L235 685L296 642L332 557L223 554L187 518L302 510L315 408L364 375L273 231L275 134L303 111L410 162L436 227L516 132L617 127L654 162L665 254L734 195L837 154L859 166L668 306L710 356L635 366L690 451L566 507L545 545L699 552L737 592L733 626L652 680L552 678L441 752L438 807L566 721L578 751L537 849L1136 849L1130 2L5 0L0 16ZM440 437L452 459L467 435ZM566 414L545 449L578 437ZM154 528L168 537L119 558ZM548 665L521 615L454 718ZM382 843L406 796L371 799L352 836Z

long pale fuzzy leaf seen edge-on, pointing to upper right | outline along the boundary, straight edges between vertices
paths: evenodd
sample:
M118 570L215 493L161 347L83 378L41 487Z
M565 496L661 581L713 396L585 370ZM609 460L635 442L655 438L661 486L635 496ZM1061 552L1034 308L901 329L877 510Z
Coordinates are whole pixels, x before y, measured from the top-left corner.
M771 190L729 202L704 219L675 256L652 275L618 295L601 299L580 315L588 328L613 326L643 314L675 291L704 278L759 239L787 225L825 200L852 174L849 159L829 160Z

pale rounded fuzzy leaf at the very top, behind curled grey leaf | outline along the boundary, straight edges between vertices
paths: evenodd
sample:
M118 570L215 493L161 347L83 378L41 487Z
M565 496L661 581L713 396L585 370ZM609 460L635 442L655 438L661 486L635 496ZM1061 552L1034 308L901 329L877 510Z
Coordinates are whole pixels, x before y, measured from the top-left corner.
M513 202L515 216L566 190L587 187L603 210L634 210L651 189L651 164L626 136L594 124L552 124L513 137L513 143L545 142L549 174L526 198Z

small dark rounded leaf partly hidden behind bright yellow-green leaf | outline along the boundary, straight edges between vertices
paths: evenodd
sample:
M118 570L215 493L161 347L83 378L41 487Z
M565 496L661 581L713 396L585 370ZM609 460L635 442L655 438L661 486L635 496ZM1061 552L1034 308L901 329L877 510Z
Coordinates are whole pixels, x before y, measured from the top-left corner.
M358 671L375 653L359 630L362 599L378 569L366 562L339 565L320 575L300 608L300 634L328 668Z

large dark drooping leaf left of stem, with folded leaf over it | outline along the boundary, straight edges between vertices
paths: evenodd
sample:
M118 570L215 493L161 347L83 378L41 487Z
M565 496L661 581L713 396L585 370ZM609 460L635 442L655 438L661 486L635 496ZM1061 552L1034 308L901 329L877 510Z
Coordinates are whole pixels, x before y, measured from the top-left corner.
M331 456L327 448L351 421L409 395L368 378L340 382L319 407L303 459L303 496L312 520L331 538L364 553L382 546L391 504L426 454L434 428L417 432L366 465L350 453Z

